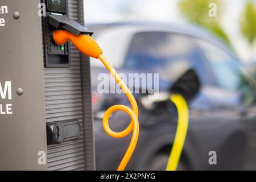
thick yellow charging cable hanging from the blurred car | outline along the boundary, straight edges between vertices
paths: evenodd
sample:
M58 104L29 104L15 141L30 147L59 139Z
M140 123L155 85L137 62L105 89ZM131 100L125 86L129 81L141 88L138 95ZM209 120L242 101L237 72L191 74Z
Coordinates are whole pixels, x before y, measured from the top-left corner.
M189 112L187 102L180 94L172 94L170 99L177 107L178 123L174 144L172 146L166 170L175 171L177 169L177 165L179 164L180 155L183 150L185 138L188 131Z

